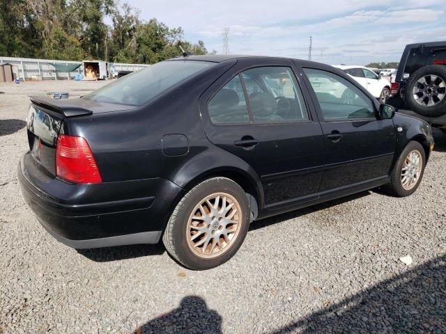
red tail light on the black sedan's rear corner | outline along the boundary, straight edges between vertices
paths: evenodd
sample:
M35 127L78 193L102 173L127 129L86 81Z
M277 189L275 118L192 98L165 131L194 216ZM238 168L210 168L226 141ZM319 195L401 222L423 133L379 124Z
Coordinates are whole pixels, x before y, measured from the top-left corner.
M59 134L56 175L75 183L102 182L98 165L85 138Z

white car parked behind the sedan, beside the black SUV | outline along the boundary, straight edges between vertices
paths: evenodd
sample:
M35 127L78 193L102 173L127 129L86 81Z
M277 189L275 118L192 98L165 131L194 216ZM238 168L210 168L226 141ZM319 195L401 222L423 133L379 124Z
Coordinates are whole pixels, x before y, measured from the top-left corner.
M334 65L334 67L343 70L353 79L359 82L365 89L369 90L379 102L385 103L390 94L390 82L381 78L374 71L364 66L346 66Z

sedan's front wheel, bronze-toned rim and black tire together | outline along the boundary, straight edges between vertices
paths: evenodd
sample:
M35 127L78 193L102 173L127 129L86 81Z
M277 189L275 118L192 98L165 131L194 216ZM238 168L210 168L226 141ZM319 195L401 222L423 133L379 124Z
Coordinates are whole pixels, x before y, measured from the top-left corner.
M387 189L397 197L412 195L420 185L424 166L426 166L424 148L417 141L410 141L392 170Z

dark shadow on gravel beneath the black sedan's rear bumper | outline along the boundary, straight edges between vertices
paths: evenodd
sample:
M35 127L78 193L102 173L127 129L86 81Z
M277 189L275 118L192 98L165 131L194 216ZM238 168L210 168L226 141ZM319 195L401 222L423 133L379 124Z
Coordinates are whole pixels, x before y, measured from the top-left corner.
M77 253L95 262L112 262L150 255L161 255L166 248L162 243L152 245L129 245L106 248L78 249Z

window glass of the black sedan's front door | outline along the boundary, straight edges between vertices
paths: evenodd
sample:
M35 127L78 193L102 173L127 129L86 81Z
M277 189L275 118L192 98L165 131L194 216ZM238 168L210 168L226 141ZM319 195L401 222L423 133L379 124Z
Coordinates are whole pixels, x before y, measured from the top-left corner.
M305 68L318 99L324 120L375 118L374 104L351 82L337 74Z

